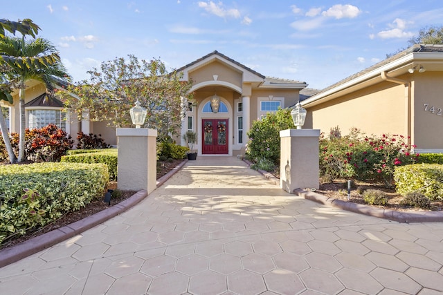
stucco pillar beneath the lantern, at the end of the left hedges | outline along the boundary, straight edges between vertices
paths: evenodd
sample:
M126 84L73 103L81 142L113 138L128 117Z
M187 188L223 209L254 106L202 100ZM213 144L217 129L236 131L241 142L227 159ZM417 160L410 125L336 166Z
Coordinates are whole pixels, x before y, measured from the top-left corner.
M144 189L147 193L156 189L156 139L157 131L154 129L117 129L118 189Z

